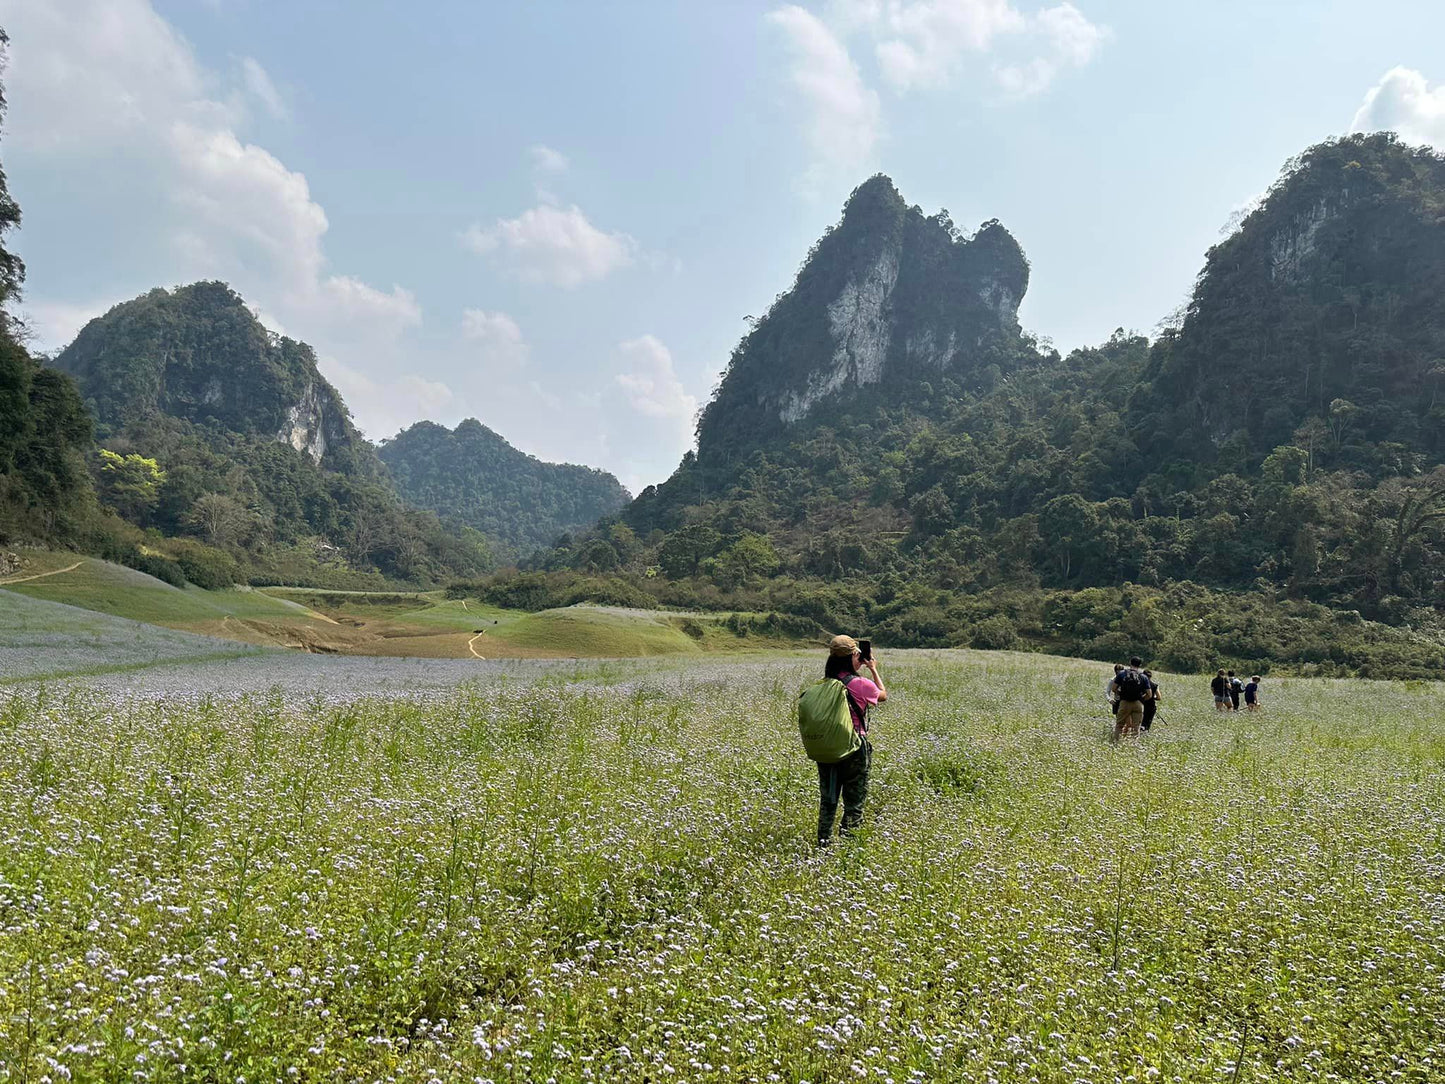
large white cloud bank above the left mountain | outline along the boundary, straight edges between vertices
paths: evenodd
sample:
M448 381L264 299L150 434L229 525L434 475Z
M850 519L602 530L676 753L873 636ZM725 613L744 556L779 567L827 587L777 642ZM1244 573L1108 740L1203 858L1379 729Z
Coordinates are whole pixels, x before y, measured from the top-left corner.
M416 298L332 273L305 175L238 134L247 101L285 108L260 64L243 59L241 85L227 87L147 0L22 4L6 29L12 134L32 165L91 178L88 204L143 223L171 282L225 279L318 353L377 371L397 361L390 344L422 321ZM153 285L124 280L127 292ZM64 334L78 305L32 283L38 335L40 324Z

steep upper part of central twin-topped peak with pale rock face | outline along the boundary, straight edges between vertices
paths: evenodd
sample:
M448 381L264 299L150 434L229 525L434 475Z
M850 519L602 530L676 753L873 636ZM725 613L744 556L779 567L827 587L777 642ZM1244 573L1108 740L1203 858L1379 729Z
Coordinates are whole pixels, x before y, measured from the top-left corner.
M1001 225L964 237L946 214L925 218L873 178L734 353L702 416L699 458L884 380L967 383L1020 341L1027 285L1029 264Z

